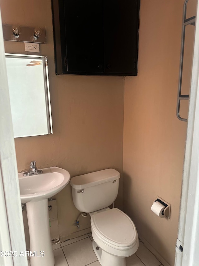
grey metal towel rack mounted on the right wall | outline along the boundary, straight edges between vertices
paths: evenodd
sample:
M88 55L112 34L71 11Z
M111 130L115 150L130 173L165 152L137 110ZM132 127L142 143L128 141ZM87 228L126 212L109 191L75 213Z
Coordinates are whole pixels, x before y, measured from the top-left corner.
M189 94L185 94L185 95L181 94L182 75L183 75L185 27L187 25L195 26L195 21L196 21L196 16L189 17L189 18L186 19L188 1L189 0L185 0L184 6L183 6L183 25L182 25L182 37L181 37L180 70L179 70L179 80L178 80L178 100L177 100L177 109L176 109L177 118L180 119L181 121L187 121L187 119L186 118L182 118L180 116L180 101L189 99Z

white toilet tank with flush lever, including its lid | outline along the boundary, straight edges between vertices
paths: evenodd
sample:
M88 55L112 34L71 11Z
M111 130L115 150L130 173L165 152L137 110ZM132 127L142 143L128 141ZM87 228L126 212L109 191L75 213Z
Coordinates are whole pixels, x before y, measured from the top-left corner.
M72 199L77 210L93 212L108 207L118 195L120 173L105 169L72 177Z

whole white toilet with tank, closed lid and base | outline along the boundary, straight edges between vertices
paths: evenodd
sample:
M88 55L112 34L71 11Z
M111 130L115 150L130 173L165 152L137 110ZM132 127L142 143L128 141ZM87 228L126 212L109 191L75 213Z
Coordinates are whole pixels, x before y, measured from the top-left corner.
M102 266L126 266L139 246L133 221L121 210L110 209L118 195L120 173L105 169L72 177L72 199L77 210L91 216L93 250Z

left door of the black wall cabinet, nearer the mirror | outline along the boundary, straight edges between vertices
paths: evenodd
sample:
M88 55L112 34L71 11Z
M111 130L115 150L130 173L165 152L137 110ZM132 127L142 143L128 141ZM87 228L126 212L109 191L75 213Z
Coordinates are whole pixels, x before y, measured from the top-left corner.
M104 72L102 0L65 0L67 72Z

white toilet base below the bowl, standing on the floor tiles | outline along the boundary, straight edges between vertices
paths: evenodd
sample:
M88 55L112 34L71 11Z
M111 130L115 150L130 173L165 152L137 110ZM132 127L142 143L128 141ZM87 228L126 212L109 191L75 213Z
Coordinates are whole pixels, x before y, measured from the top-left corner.
M111 266L126 266L127 265L126 258L116 257L114 255L111 255L105 252L101 248L96 249L96 247L98 247L98 245L93 240L93 250L101 266L110 266L110 265Z

